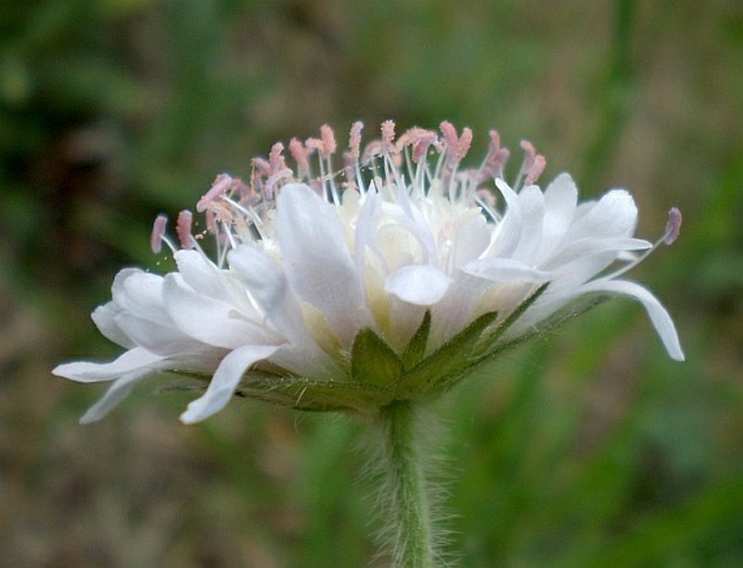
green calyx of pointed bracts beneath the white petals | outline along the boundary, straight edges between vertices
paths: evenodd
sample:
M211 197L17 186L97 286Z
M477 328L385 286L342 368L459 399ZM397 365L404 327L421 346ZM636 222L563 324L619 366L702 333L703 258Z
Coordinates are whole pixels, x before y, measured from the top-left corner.
M374 415L395 401L431 399L449 390L484 363L508 348L552 330L579 311L555 318L520 337L503 341L503 334L545 293L537 288L510 315L484 313L435 351L426 353L431 312L426 311L406 348L396 352L371 328L361 330L351 346L349 374L319 380L285 373L253 370L242 379L238 395L308 411L346 411Z

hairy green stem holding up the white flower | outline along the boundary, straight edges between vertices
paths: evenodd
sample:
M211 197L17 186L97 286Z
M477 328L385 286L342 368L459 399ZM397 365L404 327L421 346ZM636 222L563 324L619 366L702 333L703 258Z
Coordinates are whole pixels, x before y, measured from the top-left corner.
M431 568L434 551L428 496L414 403L396 401L382 411L390 522L396 568Z

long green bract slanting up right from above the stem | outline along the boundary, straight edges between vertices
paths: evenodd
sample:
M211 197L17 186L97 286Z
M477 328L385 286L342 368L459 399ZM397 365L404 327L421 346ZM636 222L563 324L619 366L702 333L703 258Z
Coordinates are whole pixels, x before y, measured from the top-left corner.
M415 398L430 391L449 377L461 374L471 364L474 346L485 328L498 318L498 312L485 313L459 332L430 357L402 376L398 398Z

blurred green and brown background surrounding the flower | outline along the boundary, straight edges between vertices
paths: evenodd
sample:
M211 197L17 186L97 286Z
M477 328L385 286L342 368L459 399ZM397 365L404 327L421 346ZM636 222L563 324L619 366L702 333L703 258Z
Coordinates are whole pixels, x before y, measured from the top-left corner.
M28 0L0 15L0 565L387 565L363 424L236 401L184 427L153 382L82 427L102 390L50 370L118 351L89 312L121 266L167 269L156 214L388 117L470 126L473 156L528 138L545 179L629 188L651 240L684 214L632 276L686 363L617 299L441 404L452 558L743 564L741 2Z

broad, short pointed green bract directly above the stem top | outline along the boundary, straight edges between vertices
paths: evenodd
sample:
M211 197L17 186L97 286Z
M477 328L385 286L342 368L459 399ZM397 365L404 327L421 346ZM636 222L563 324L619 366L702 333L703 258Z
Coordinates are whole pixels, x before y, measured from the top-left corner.
M402 374L402 361L387 343L369 327L354 339L350 376L355 383L386 387Z

